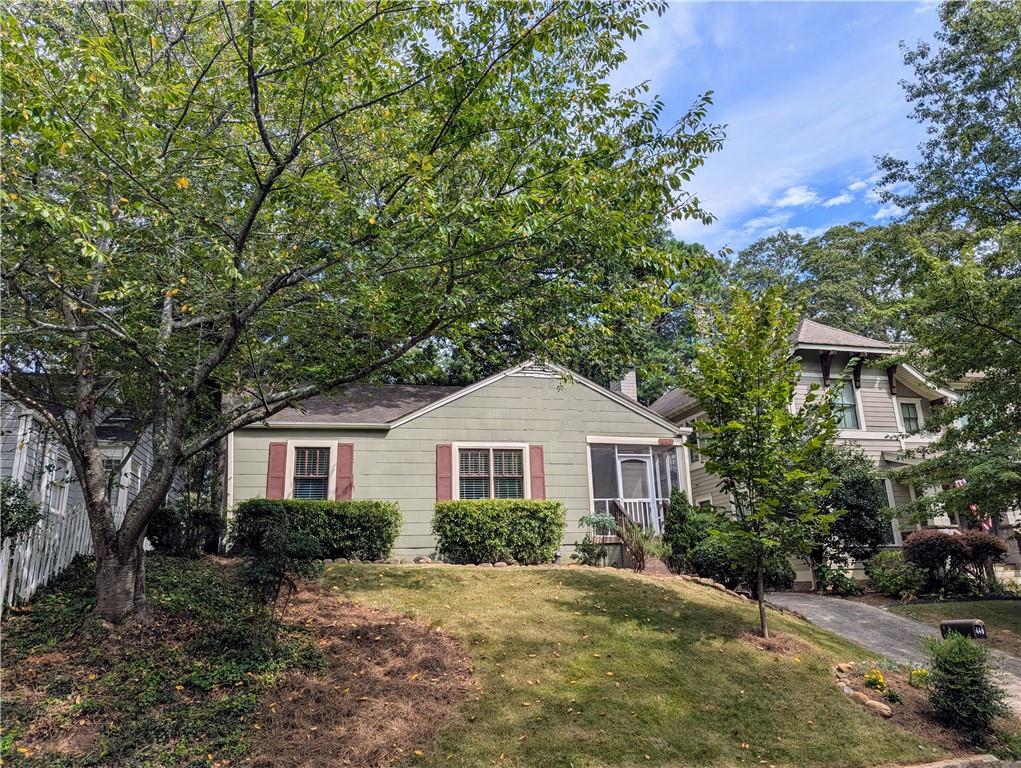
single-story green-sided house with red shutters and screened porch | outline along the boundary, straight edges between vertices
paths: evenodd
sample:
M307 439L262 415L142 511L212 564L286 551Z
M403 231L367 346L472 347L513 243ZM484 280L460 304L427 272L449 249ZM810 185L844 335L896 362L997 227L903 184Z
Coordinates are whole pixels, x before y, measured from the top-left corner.
M690 430L639 404L633 375L612 391L525 363L471 386L350 385L227 438L225 501L364 498L399 503L399 555L431 556L433 509L449 498L563 501L567 557L595 511L661 530L689 487Z

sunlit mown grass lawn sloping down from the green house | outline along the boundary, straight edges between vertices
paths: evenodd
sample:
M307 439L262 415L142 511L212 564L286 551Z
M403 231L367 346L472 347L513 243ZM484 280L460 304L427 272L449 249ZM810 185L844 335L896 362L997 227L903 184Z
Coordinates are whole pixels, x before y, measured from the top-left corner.
M412 762L501 766L871 766L938 751L841 695L831 667L868 655L771 614L807 643L740 638L752 604L591 569L335 566L338 594L458 637L477 686L464 720Z

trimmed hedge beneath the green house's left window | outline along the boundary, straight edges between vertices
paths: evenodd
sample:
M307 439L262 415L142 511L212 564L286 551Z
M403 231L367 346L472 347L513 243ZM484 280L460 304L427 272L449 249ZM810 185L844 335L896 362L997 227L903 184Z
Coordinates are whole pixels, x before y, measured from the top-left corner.
M387 558L401 526L400 508L394 501L251 498L234 512L235 541L244 540L249 521L277 514L283 514L295 531L310 535L324 558Z

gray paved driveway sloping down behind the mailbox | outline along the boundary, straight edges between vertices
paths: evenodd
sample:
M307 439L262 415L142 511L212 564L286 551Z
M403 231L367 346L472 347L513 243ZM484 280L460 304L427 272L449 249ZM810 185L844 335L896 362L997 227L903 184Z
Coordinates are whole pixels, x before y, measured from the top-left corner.
M855 601L811 592L774 592L769 602L902 664L920 664L924 659L921 638L939 636L935 627ZM1021 659L999 651L991 651L989 657L1011 708L1021 716Z

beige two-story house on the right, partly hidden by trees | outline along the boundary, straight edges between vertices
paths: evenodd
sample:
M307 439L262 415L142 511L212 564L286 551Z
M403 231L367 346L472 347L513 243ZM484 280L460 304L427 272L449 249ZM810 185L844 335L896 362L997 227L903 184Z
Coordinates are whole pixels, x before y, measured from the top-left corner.
M801 358L801 380L794 404L805 397L812 384L838 385L839 431L837 439L861 448L875 461L880 471L895 470L911 461L905 451L936 439L925 426L935 409L956 399L958 393L937 386L920 371L908 365L884 366L880 361L894 351L886 341L866 338L837 328L803 320L791 339L795 354ZM841 381L848 363L857 358L852 376ZM679 426L690 426L701 415L698 402L680 389L674 389L653 402L650 409ZM696 506L732 508L717 479L706 472L697 449L690 450L691 498ZM886 498L891 508L914 501L924 488L902 485L884 479ZM960 520L943 515L928 521L928 527L955 529ZM1021 524L1017 513L1000 521L996 532L1008 542L1010 553L1005 575L1013 575L1021 565L1018 542L1011 535ZM917 524L893 519L887 543L898 546L904 535ZM805 569L798 581L809 578Z

